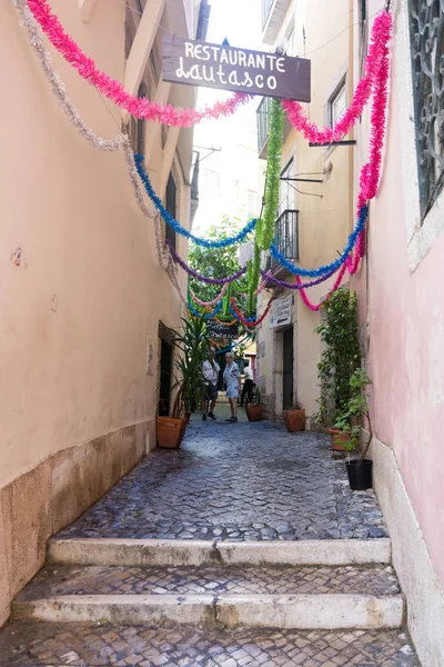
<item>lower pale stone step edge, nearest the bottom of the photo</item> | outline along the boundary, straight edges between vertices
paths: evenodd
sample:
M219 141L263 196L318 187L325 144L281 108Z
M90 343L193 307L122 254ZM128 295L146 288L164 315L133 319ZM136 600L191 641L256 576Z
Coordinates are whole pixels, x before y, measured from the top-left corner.
M17 619L202 628L400 628L401 595L67 595L16 601Z

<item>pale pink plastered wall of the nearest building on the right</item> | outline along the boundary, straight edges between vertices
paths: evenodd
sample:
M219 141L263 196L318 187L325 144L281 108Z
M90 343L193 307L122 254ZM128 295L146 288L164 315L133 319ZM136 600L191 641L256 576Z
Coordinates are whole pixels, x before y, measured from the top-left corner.
M382 0L355 2L355 83ZM438 0L394 0L383 171L355 280L373 380L374 486L423 665L444 664L443 84ZM441 63L441 70L440 70ZM356 126L355 191L370 111Z

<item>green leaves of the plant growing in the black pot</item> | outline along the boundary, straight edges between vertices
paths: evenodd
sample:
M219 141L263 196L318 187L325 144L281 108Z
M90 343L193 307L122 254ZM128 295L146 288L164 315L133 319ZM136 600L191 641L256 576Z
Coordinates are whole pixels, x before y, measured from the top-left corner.
M366 391L366 387L371 384L372 380L364 369L357 368L354 371L350 378L351 394L349 401L344 406L344 410L337 416L337 420L334 425L334 428L339 428L346 437L342 442L343 448L346 451L353 451L360 446L361 420L363 417L366 418L370 436L369 441L361 454L361 460L364 460L373 438L372 420L369 409L369 395Z

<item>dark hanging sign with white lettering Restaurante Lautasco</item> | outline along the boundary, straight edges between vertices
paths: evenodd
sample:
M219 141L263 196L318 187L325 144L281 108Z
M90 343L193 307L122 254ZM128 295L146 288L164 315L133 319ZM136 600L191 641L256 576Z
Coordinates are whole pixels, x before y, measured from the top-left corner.
M311 101L311 61L191 39L163 38L164 81Z

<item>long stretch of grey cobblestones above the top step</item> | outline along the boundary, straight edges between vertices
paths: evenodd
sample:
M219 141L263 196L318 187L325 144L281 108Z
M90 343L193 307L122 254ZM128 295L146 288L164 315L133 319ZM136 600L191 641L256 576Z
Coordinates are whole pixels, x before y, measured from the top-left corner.
M270 421L192 420L64 537L297 540L386 537L373 490L352 492L330 439Z

